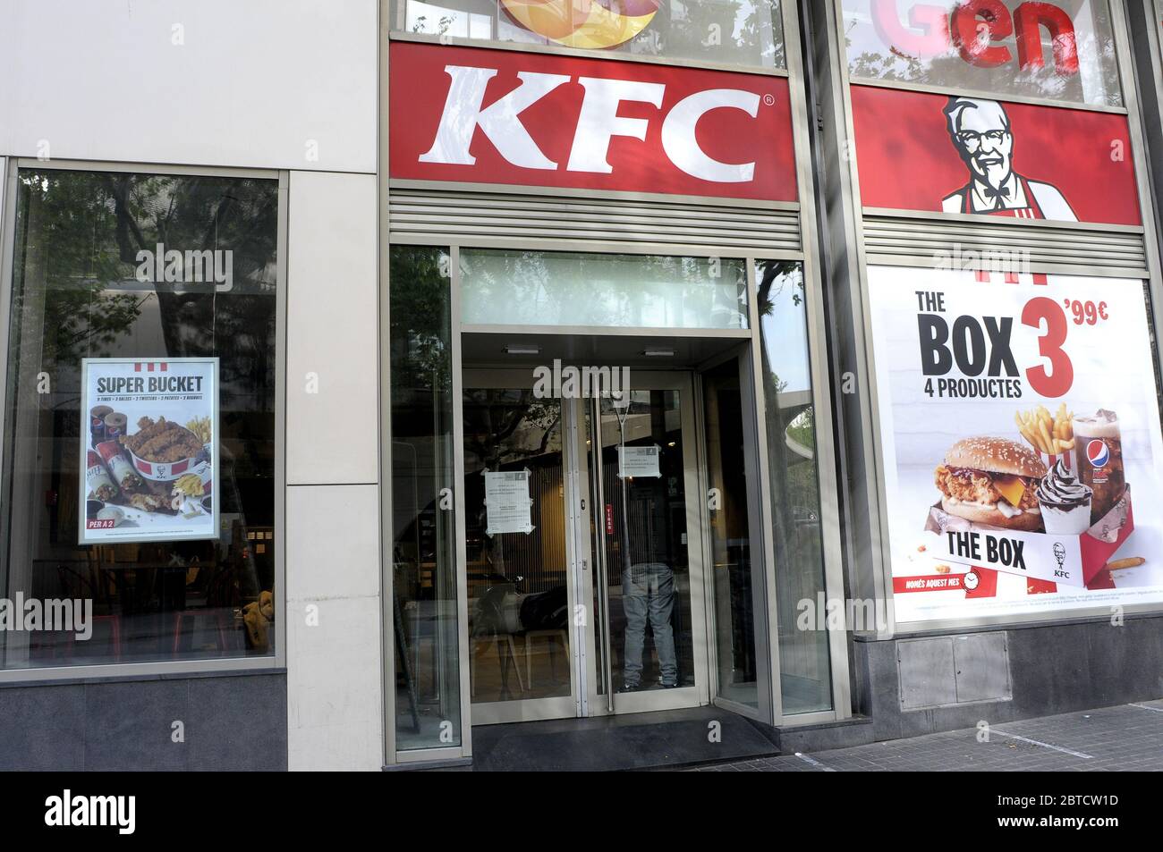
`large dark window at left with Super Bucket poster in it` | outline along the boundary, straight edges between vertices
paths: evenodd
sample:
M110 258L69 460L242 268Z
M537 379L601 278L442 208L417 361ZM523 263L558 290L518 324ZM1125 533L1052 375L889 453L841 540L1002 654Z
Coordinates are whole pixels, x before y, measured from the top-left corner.
M0 597L92 618L0 631L3 667L273 653L277 181L21 170L15 234ZM163 432L173 399L126 396L91 422L83 359L178 358L217 358L216 416ZM214 503L217 537L179 540ZM117 540L79 544L94 520Z

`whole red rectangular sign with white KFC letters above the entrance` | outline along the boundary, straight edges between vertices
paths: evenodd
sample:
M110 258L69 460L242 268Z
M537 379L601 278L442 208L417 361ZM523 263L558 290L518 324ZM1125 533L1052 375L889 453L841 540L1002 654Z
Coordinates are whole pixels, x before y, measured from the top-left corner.
M794 201L787 80L393 42L390 173Z

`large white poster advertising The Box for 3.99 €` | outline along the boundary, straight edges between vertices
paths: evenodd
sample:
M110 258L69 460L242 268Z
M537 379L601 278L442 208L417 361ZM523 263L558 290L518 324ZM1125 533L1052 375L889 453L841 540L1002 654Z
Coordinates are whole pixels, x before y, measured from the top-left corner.
M899 623L1163 601L1143 282L870 267Z

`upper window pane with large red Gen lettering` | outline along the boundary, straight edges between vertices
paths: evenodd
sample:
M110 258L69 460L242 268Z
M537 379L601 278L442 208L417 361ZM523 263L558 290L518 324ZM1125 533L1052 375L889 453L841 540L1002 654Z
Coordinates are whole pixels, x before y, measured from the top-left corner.
M843 0L843 7L854 78L1122 105L1105 0Z

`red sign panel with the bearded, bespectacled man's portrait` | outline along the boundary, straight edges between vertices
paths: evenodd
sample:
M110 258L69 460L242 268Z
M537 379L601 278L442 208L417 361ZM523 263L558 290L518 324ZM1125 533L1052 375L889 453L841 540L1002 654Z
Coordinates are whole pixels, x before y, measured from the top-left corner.
M1141 224L1127 116L852 86L864 207Z

